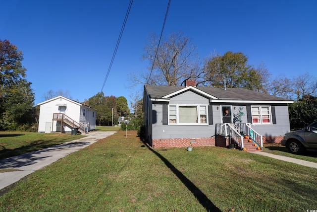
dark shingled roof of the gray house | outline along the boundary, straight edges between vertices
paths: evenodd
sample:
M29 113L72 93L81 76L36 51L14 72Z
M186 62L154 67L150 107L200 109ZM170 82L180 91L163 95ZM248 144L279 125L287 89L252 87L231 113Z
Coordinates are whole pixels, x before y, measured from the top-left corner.
M147 85L145 89L149 94L150 98L160 99L164 96L181 91L186 87L184 86L155 86ZM242 100L242 101L291 101L276 96L271 96L265 93L248 90L245 88L216 88L216 87L188 87L195 92L196 89L216 97L217 99L223 100Z

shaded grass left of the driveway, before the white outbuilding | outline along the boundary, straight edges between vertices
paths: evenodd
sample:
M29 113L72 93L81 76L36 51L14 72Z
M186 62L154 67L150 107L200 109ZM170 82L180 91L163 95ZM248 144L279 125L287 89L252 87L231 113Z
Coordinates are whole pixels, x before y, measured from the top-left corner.
M60 133L0 132L0 159L40 150L82 137L84 136Z

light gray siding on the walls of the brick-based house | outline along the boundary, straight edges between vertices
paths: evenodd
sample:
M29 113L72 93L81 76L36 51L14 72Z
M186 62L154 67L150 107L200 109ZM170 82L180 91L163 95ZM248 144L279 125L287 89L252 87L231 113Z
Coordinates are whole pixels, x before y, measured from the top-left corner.
M210 138L214 136L215 124L222 123L222 111L220 104L212 105L212 125L163 125L163 104L163 102L152 102L148 96L145 97L145 125L147 126L147 139L150 141L152 139ZM172 97L169 104L209 105L209 99L189 90ZM236 109L234 109L234 107ZM236 114L239 107L239 105L233 105L232 114ZM283 136L285 133L290 131L288 107L286 105L274 107L276 124L252 126L252 128L260 135ZM150 113L148 113L149 111ZM242 112L244 113L242 123L247 123L246 105L243 105Z

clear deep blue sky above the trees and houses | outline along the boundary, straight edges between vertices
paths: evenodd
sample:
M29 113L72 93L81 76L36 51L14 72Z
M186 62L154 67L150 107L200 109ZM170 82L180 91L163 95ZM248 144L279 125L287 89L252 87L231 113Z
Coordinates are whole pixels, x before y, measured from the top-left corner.
M101 91L130 0L0 0L0 39L24 55L35 103L49 90L84 101ZM129 73L150 32L161 31L168 0L134 0L103 92L130 95ZM163 35L182 31L201 58L243 52L273 77L317 76L317 0L171 0Z

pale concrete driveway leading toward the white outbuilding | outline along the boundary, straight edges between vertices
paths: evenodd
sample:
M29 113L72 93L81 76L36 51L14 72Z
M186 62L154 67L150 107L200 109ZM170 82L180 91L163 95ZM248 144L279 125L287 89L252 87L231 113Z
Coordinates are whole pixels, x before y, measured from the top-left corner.
M0 173L0 190L32 172L50 165L58 159L89 146L100 139L111 136L114 133L116 132L93 131L86 137L78 140L2 159L0 160L0 169L17 169L18 171Z

